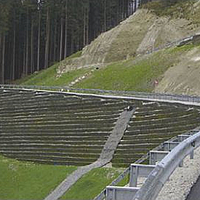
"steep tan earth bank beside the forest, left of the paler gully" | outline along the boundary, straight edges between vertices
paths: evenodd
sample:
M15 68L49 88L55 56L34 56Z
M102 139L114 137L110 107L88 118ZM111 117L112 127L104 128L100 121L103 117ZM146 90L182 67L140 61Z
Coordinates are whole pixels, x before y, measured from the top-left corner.
M83 49L80 57L61 62L57 70L58 76L70 70L101 67L105 63L135 56L140 42L155 18L156 16L147 10L138 10L117 27L102 33Z

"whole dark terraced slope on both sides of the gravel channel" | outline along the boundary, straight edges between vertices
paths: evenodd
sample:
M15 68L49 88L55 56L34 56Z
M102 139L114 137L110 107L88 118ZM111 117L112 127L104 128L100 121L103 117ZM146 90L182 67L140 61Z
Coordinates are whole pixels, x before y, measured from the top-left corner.
M200 124L195 106L0 89L0 153L45 164L91 164L130 105L136 111L112 160L116 167Z

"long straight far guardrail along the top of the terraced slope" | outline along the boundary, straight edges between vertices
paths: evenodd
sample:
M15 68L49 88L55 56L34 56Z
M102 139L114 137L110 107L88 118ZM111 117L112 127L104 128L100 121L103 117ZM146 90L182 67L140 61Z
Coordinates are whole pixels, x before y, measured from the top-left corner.
M47 90L58 92L72 92L82 94L94 94L94 95L112 95L122 96L135 99L144 100L160 100L160 101L180 101L188 103L200 103L199 96L187 96L187 95L173 95L162 93L147 93L147 92L135 92L135 91L115 91L115 90L101 90L101 89L80 89L71 87L48 87L48 86L27 86L27 85L0 85L3 89L31 89L31 90Z

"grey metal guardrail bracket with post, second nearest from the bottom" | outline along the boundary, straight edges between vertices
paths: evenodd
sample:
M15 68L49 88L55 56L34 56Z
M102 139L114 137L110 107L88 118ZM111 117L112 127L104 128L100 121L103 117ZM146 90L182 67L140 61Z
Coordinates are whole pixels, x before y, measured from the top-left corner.
M155 167L156 165L131 164L129 186L137 187L138 177L147 178Z

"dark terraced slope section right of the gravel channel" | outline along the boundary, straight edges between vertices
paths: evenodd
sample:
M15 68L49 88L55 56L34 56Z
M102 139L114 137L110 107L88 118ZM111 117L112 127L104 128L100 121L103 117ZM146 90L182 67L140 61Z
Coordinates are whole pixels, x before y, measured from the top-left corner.
M113 166L128 167L160 143L196 128L200 124L198 107L180 104L137 102L123 140L112 160Z

